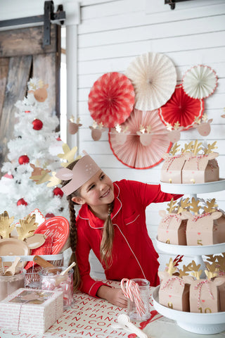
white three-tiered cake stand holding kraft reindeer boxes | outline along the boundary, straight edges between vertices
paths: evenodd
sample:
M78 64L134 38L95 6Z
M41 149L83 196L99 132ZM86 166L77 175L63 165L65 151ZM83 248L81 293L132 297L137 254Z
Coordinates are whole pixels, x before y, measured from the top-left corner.
M205 194L209 192L219 192L225 190L225 179L220 178L217 182L207 182L203 184L170 184L160 182L162 192L170 194L189 194L190 197L196 199L197 194ZM214 253L225 252L225 243L203 246L187 246L174 245L158 241L156 238L158 249L165 253L182 254L184 256L193 256L193 260L201 269L205 270L203 262L204 255L212 255ZM217 313L191 313L177 311L166 306L162 306L158 302L159 287L153 292L153 302L155 310L165 315L165 317L176 320L177 325L184 330L199 334L215 334L225 330L225 312Z

